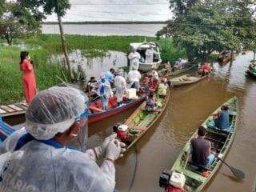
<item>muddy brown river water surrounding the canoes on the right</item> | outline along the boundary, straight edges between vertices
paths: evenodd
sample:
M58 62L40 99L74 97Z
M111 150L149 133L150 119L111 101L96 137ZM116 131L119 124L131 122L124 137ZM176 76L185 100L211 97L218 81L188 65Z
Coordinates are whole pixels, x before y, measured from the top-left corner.
M242 170L246 178L234 179L222 166L204 191L254 191L256 185L256 78L247 77L252 53L238 55L233 63L214 63L210 79L171 91L166 113L130 150L116 162L116 188L120 191L159 191L162 170L171 168L182 147L197 127L223 102L237 96L240 106L238 132L226 162ZM111 134L111 126L124 122L135 109L127 110L89 127L90 146ZM133 182L134 181L134 182Z

